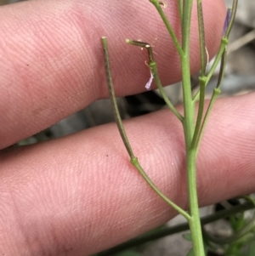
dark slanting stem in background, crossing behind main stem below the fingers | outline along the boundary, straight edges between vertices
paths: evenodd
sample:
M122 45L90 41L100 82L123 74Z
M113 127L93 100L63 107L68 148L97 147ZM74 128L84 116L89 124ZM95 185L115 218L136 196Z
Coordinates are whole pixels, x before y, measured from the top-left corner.
M254 205L252 202L244 202L240 205L233 206L231 208L219 211L217 213L212 213L206 217L202 217L201 224L207 225L214 221L217 221L218 219L224 219L231 215L235 215L236 213L242 213L247 210L251 210L252 208L254 208ZM137 236L137 237L133 238L132 240L123 242L122 244L117 245L116 247L112 247L111 249L108 249L105 252L99 253L97 256L114 255L115 253L120 253L123 250L127 250L131 247L137 247L146 242L155 241L162 237L171 236L173 234L176 234L179 232L184 232L186 230L189 230L188 223L183 223L183 224L175 225L172 227L164 227L160 230L155 230L153 232L145 233L144 235Z

